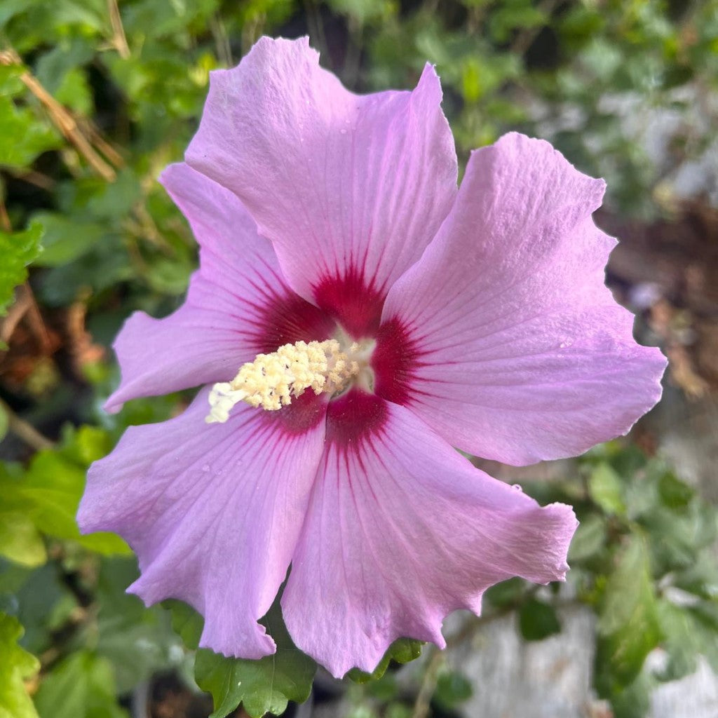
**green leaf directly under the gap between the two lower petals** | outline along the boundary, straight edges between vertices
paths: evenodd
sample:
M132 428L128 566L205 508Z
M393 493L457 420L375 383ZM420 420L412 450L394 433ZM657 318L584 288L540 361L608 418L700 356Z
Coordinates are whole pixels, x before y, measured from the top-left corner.
M224 718L241 703L252 718L284 713L288 701L302 703L309 697L317 664L292 643L275 602L262 620L276 643L276 653L258 661L225 658L200 649L195 658L195 680L212 694L215 712Z

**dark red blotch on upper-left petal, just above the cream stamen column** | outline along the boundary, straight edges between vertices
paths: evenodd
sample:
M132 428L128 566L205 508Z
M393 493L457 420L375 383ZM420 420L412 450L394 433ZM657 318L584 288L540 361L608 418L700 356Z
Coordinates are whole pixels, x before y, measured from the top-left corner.
M322 341L335 332L336 325L322 309L287 290L274 294L261 310L256 330L257 353L270 353L284 344Z

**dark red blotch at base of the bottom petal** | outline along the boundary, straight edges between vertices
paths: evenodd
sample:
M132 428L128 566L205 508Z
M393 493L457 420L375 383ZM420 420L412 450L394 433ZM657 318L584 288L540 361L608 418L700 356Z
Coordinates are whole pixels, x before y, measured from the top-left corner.
M359 447L381 432L386 419L383 399L351 389L327 406L327 442L342 449Z

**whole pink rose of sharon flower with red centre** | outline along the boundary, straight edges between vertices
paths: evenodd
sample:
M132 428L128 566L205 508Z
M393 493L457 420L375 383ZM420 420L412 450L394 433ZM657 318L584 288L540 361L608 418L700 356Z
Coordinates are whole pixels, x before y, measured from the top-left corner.
M281 607L335 676L405 636L444 645L513 576L561 580L577 526L453 447L525 465L626 432L661 394L604 285L604 182L508 134L457 159L439 79L354 95L307 39L212 73L161 181L200 243L185 304L134 314L107 407L205 385L90 468L83 531L134 548L147 604L186 601L201 645L259 658ZM260 356L258 356L260 355ZM205 421L208 419L210 423Z

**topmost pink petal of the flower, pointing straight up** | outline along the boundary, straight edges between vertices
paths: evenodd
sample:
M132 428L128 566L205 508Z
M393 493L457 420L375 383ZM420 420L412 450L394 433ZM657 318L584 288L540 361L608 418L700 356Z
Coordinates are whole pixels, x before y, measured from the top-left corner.
M236 192L302 297L340 314L333 284L346 279L381 311L456 193L441 99L429 65L411 93L359 96L322 70L307 38L263 37L212 73L187 162Z

